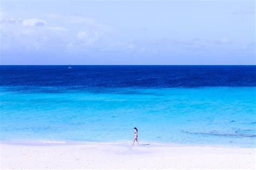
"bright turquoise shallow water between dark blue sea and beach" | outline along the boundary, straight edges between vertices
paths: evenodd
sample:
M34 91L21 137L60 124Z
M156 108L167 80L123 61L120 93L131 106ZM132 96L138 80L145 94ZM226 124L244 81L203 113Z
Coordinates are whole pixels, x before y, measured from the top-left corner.
M1 87L1 141L131 141L255 147L256 87ZM21 87L22 89L22 87Z

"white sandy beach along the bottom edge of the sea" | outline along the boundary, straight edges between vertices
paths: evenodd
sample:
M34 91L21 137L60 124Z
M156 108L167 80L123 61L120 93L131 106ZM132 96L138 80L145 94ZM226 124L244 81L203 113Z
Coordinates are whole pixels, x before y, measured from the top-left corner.
M255 168L255 148L1 144L5 168Z

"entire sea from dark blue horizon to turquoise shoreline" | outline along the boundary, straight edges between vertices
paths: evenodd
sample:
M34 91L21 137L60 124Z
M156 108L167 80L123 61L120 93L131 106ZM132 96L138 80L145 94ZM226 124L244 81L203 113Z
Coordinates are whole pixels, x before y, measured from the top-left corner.
M0 66L0 141L256 147L256 66Z

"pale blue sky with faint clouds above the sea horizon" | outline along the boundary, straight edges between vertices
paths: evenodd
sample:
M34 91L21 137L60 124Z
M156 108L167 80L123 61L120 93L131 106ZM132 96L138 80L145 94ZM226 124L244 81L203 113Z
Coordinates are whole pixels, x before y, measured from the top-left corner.
M0 1L1 65L255 65L255 1Z

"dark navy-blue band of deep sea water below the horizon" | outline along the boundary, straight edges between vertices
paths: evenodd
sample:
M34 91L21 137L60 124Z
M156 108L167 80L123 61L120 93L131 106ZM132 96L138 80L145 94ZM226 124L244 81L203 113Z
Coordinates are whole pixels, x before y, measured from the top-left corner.
M0 86L255 87L256 66L1 66Z

